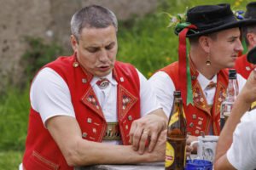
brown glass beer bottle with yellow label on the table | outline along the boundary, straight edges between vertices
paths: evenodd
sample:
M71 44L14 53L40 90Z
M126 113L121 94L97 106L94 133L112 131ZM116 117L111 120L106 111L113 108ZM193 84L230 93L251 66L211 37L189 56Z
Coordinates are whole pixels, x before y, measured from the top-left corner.
M183 170L186 161L187 122L181 92L173 93L166 139L166 170Z

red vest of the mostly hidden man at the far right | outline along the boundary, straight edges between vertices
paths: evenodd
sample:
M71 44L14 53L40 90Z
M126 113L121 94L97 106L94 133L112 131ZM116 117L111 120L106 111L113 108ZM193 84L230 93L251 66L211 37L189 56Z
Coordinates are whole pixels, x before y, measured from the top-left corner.
M247 54L243 54L241 57L236 59L236 65L234 69L236 69L236 72L245 79L249 77L251 71L253 71L253 68L254 65L247 61Z

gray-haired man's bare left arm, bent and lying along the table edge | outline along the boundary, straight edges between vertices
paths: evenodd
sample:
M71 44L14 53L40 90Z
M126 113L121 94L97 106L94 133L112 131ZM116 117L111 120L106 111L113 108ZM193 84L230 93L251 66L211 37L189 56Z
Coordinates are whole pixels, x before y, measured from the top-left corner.
M79 124L73 117L55 116L49 119L47 127L71 167L164 160L157 153L148 156L147 150L143 155L139 155L137 151L132 150L131 145L104 144L83 139Z

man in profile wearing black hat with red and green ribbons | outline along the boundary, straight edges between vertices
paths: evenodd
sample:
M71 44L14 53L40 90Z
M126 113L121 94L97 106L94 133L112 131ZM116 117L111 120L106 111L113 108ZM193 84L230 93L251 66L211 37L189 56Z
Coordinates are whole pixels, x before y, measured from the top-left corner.
M239 39L241 24L228 3L190 8L187 22L178 23L175 29L179 36L178 62L149 79L167 116L172 110L173 92L182 92L190 134L187 144L196 140L201 131L213 135L220 132L219 109L228 84L225 68L234 67L243 50ZM190 42L188 55L186 37ZM241 89L245 79L237 75L237 80Z

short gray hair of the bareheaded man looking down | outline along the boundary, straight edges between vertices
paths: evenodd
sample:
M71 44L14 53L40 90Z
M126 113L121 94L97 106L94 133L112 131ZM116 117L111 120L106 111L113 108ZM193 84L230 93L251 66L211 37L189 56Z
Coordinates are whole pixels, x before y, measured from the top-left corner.
M86 28L107 28L113 25L118 31L118 22L115 14L108 8L98 5L90 5L81 8L75 14L70 22L71 33L79 41L81 30Z

